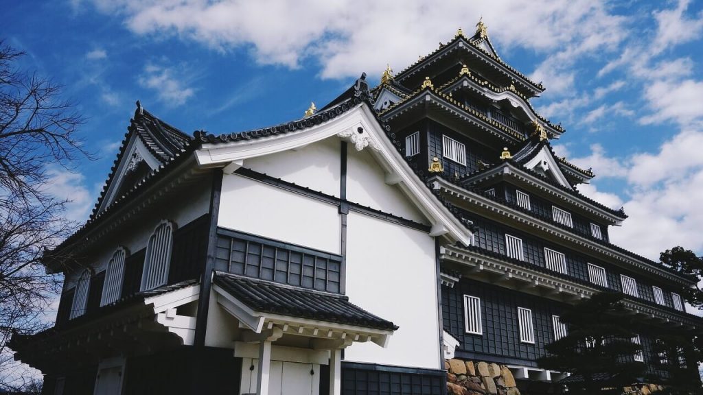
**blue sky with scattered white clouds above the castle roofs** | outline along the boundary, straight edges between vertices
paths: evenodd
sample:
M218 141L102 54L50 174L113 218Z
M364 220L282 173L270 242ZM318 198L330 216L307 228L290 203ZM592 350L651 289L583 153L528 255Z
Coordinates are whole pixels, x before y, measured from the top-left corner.
M631 216L612 240L656 259L703 253L702 2L24 0L0 37L88 118L98 159L51 186L83 221L137 99L186 133L276 124L482 16L501 58L546 86L532 103L567 129L557 153L593 167L582 192Z

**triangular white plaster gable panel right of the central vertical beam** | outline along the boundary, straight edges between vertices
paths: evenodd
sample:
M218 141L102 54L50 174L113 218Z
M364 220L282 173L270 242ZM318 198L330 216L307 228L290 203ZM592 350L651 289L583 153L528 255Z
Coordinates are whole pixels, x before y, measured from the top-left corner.
M385 183L385 172L368 153L349 145L347 200L427 224L427 219L399 188Z

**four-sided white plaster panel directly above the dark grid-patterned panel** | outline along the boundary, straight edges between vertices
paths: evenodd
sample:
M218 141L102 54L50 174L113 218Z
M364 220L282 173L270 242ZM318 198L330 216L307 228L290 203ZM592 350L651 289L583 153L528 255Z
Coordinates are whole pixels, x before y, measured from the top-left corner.
M304 247L340 253L336 205L237 174L222 180L217 225Z

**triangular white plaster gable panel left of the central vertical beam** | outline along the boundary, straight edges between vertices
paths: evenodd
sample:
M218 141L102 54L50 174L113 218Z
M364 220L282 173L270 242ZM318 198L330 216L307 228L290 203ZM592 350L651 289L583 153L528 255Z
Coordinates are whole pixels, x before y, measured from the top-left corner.
M259 173L340 196L339 138L326 138L297 150L247 159L244 166Z

